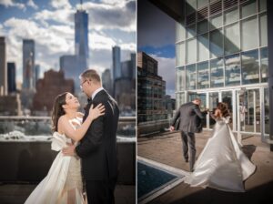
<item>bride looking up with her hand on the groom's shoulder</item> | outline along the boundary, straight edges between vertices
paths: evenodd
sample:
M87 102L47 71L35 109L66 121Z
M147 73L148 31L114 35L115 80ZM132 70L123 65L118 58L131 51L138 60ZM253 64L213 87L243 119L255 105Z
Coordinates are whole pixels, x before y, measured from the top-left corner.
M56 97L52 114L54 134L51 148L53 150L60 151L69 144L75 144L84 137L92 121L96 117L103 116L105 111L105 107L101 104L94 108L91 106L88 117L82 123L83 114L77 112L78 107L80 104L77 98L68 92ZM25 200L25 204L35 203L85 203L80 159L65 157L60 151L45 179Z

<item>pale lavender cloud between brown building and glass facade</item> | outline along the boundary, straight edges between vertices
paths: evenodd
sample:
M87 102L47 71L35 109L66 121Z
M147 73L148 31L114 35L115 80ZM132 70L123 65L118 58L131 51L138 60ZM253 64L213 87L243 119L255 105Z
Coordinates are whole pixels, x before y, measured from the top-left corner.
M149 56L152 56L158 62L158 76L162 76L163 80L166 81L166 94L175 97L176 59L156 55Z

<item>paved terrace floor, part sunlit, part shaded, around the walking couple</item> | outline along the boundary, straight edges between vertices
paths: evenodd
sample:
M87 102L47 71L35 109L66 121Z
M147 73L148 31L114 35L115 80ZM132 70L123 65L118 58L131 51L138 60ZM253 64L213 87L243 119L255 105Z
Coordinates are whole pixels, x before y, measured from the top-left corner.
M196 135L197 157L205 147L210 131ZM185 183L159 196L150 203L184 204L259 204L273 201L273 152L260 141L260 137L243 139L244 152L257 166L257 171L245 182L245 193L230 193L216 189L191 188ZM137 155L167 164L175 168L189 170L188 163L182 159L180 133L138 138ZM270 201L266 201L270 200Z

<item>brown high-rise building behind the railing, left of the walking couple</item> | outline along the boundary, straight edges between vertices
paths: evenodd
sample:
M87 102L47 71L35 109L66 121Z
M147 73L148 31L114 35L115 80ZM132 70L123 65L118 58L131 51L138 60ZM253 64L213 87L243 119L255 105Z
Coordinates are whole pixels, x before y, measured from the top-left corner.
M167 128L167 109L163 103L166 81L157 75L157 60L137 53L137 123L140 134ZM157 126L152 121L157 121Z

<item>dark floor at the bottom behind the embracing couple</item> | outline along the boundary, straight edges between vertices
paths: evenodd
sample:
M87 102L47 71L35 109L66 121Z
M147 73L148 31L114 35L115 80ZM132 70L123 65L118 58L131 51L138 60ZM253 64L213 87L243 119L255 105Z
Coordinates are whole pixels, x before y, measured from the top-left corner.
M30 184L0 184L0 203L23 204L28 195L35 189L35 186ZM116 204L136 203L136 187L117 185L115 199Z

